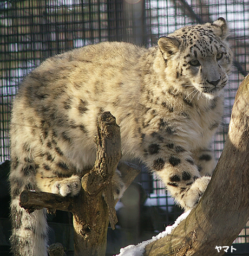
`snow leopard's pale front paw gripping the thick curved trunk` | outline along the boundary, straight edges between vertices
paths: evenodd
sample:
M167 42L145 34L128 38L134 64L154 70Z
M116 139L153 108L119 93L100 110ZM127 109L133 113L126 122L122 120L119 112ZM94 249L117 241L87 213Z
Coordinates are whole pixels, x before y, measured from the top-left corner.
M182 194L182 201L180 204L184 206L186 211L196 206L201 196L204 194L210 180L211 177L207 176L198 178L194 181L191 187Z

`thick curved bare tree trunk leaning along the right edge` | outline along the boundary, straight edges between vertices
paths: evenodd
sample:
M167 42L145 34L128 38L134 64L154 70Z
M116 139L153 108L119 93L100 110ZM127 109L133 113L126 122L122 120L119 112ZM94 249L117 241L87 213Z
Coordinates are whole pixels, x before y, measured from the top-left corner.
M240 85L224 150L198 205L144 256L223 255L249 217L249 76Z

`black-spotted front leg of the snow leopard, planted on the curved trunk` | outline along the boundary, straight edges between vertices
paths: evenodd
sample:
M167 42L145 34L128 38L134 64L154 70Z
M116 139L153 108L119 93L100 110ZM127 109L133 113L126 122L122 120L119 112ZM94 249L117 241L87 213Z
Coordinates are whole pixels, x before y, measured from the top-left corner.
M201 177L192 152L184 146L163 141L148 145L146 152L145 163L156 171L180 206L185 210L193 208L211 178Z

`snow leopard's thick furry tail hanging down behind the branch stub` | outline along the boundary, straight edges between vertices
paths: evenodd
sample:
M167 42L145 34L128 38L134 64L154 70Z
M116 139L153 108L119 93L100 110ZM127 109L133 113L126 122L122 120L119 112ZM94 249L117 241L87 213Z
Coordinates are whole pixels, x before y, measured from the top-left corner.
M9 176L11 187L11 250L15 256L47 256L47 220L45 209L27 213L19 206L19 196L24 189L35 189L34 164L29 159L20 163L12 159Z

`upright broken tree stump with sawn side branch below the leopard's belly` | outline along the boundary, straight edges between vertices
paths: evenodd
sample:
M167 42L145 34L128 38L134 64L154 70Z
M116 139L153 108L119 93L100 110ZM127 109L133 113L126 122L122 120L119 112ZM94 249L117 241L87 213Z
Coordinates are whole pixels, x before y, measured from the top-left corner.
M115 117L104 112L97 126L97 158L94 168L82 178L82 189L75 197L57 194L23 191L21 206L29 212L48 208L73 213L75 255L104 256L107 244L107 229L110 222L117 222L112 193L112 176L121 157L120 127ZM126 185L139 173L134 165L122 163L119 167ZM105 195L104 197L102 195Z

